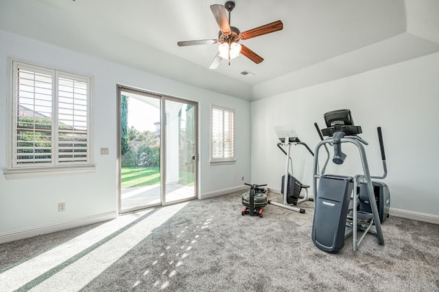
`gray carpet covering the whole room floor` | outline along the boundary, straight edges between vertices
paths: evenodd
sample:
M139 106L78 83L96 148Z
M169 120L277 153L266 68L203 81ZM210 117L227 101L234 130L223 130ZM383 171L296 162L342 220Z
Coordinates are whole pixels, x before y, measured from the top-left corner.
M328 254L302 206L243 217L233 193L4 243L0 291L439 291L439 226L390 217L385 245Z

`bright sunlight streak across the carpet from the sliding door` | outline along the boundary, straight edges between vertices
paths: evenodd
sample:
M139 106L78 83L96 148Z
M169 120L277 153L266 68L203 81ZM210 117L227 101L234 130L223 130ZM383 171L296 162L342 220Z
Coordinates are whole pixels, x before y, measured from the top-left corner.
M0 287L4 291L33 288L78 291L187 204L132 213L108 221L1 273ZM132 287L139 283L134 282Z

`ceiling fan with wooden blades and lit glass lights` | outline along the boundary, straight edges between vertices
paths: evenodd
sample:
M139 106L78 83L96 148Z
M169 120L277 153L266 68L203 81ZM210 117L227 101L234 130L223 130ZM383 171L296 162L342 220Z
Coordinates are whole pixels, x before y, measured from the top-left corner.
M239 53L243 54L256 64L263 61L263 58L257 53L254 53L251 49L244 45L238 44L239 40L248 40L256 36L262 36L263 34L270 34L270 32L277 32L283 29L282 21L274 21L274 23L268 23L249 29L246 32L240 32L236 27L230 26L230 12L235 8L234 1L227 1L224 6L220 4L211 5L211 10L215 20L219 25L219 34L217 39L211 40L185 40L177 42L179 47L193 46L193 45L212 45L220 43L218 47L218 53L213 59L210 69L216 69L222 59L230 60L239 56ZM228 11L228 18L226 15Z

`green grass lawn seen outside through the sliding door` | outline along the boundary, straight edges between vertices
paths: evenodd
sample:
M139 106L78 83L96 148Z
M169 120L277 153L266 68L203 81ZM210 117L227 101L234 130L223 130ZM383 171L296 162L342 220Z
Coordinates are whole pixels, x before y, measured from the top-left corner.
M134 186L148 186L160 184L159 167L122 167L121 169L122 188L132 188ZM193 186L193 173L180 171L180 184Z

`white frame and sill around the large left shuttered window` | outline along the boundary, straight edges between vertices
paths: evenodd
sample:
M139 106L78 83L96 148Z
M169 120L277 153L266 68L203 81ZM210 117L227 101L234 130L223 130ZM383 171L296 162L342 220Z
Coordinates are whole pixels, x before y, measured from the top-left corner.
M71 71L66 71L63 69L54 68L51 66L44 66L40 64L34 64L32 62L25 62L22 60L16 60L9 58L9 69L8 69L8 123L7 123L7 133L8 138L7 148L8 148L8 168L5 169L4 174L6 179L16 179L16 178L36 178L45 177L49 175L64 175L64 174L77 174L77 173L92 173L95 172L95 166L93 165L93 76L86 75L82 73L73 73ZM16 164L17 157L17 124L14 121L16 114L16 92L14 93L14 88L16 88L16 70L18 68L29 70L36 73L50 74L51 76L51 133L52 136L51 143L55 143L56 146L52 146L51 149L51 162L44 164L29 164L29 165L18 165ZM59 141L58 141L58 96L59 88L58 82L60 77L71 77L72 80L86 82L86 161L82 162L59 162Z

